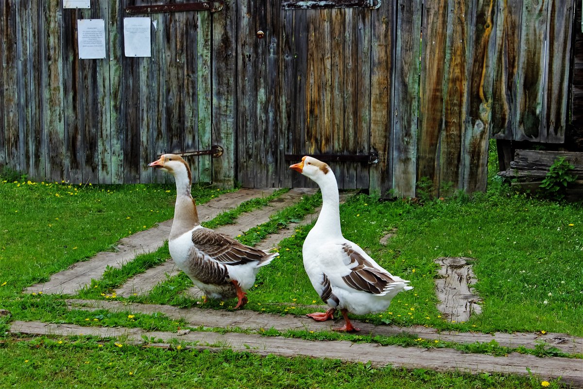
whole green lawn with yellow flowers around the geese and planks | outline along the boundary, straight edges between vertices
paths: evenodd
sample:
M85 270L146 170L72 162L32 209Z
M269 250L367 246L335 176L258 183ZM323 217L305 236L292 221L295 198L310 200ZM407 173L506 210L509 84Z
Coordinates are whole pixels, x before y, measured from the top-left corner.
M415 287L410 292L399 294L387 311L360 317L361 320L405 327L427 325L452 331L544 330L583 336L582 206L518 194L494 177L490 178L490 183L489 192L477 194L473 199L454 194L444 201L426 199L418 205L403 200L378 202L366 195L357 195L341 206L343 233L347 239L360 244L392 274L409 279ZM275 195L282 192L278 191ZM193 188L198 204L221 193L212 187ZM362 364L331 360L262 359L227 351L211 354L184 350L177 353L129 345L120 349L108 344L100 348L92 339L84 338L65 339L66 347L55 344L56 339L47 338L37 341L40 345L34 341L13 343L12 338L4 334L10 320L121 325L160 331L175 331L178 327L184 327L184 322L164 316L133 314L134 317L128 317L132 315L131 311L68 310L59 296L20 293L23 288L46 281L51 274L75 262L111 248L121 237L171 218L175 191L171 185L82 186L20 181L0 182L0 195L10 199L0 212L3 226L0 240L0 308L10 310L12 314L0 318L0 333L5 339L0 346L0 358L9 360L8 365L0 367L3 374L0 374L3 376L0 382L6 384L4 386L17 384L18 379L30 379L35 386L39 386L38 381L44 381L40 385L45 387L86 387L92 381L102 386L127 387L124 380L132 371L134 374L129 377L132 379L129 387L134 384L152 386L152 382L156 382L154 377L158 375L163 385L156 387L183 387L187 381L189 386L195 387L356 387L353 383L361 383L362 387L390 385L405 388L540 387L536 379L512 376L470 377L425 370L375 370ZM235 211L212 220L212 223L218 226L234 222L242 212L258 208L265 201L268 200L241 205ZM267 234L290 222L297 222L320 202L319 194L306 196L299 204L276 213L268 223L245 232L238 239L245 244L255 244ZM212 226L216 227L215 224ZM293 236L282 241L278 248L280 257L259 272L256 286L248 292L250 303L245 309L300 315L311 311L307 305L322 304L305 275L301 258L301 246L310 227L297 227ZM397 233L387 246L382 246L379 239L393 228L397 229ZM473 270L479 279L476 289L484 303L483 313L468 323L449 323L436 309L434 278L437 267L433 261L442 256L473 258ZM156 253L139 256L121 269L108 269L103 279L94 281L79 297L111 298L113 289L130 276L167 258L167 246L164 246ZM189 279L181 274L161 283L148 296L132 296L128 300L196 306L196 300L181 294L191 285ZM210 301L206 307L224 310L232 308L235 303L235 300L224 304ZM266 331L267 335L279 334L269 331ZM562 355L544 345L521 350L502 348L496 344L455 345L441 341L431 344L433 341L417 341L408 335L371 338L330 332L310 334L306 331L288 331L280 335L405 346L447 346L465 352L493 355L510 351L540 356ZM85 356L89 364L81 362ZM175 362L177 358L181 363ZM24 363L26 359L29 362ZM115 360L115 364L101 363L111 360ZM31 361L34 365L28 365ZM182 363L196 366L196 369L186 369ZM221 369L221 366L226 367L224 363L229 365L230 370ZM246 363L252 367L247 369ZM69 365L72 367L68 374L53 368ZM31 366L36 369L31 369ZM296 369L294 366L312 367ZM330 366L331 372L321 372L317 366ZM90 367L91 373L88 370ZM130 367L132 370L128 370ZM286 379L282 379L280 372L286 369L288 374ZM207 374L207 370L212 373ZM257 370L267 373L255 377ZM238 381L229 375L233 372L240 372L238 377L254 379ZM337 374L340 376L336 377ZM352 374L356 379L343 381L344 374ZM174 376L174 381L171 376ZM226 381L220 383L217 377ZM274 384L271 377L278 377L278 380L273 378L278 383ZM396 384L389 384L391 380ZM111 385L105 384L106 381ZM303 384L291 384L296 381Z

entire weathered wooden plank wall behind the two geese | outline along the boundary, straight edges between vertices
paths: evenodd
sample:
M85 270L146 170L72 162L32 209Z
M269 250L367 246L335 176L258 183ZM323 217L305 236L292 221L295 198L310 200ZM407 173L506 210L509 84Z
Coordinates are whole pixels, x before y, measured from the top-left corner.
M574 0L227 0L151 14L152 57L125 57L125 8L156 3L0 1L0 166L150 183L159 153L220 145L195 180L307 186L287 166L312 154L413 196L484 190L490 136L564 140ZM107 58L78 58L78 19L105 20Z

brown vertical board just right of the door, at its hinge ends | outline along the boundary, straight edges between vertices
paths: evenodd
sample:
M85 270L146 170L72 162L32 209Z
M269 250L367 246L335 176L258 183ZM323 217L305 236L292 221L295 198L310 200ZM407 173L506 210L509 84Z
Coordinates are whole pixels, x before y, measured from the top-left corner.
M392 186L392 108L395 7L382 2L371 12L370 148L378 163L370 168L370 193L387 197Z

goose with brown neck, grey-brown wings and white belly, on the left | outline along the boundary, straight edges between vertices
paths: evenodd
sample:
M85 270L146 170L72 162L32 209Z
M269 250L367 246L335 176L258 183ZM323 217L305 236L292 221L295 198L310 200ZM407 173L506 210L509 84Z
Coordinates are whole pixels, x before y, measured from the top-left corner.
M167 171L176 181L174 221L168 248L178 268L206 297L221 300L237 297L235 308L243 307L247 303L245 290L254 285L259 268L269 264L279 254L268 254L245 246L201 226L190 192L190 167L181 156L164 154L148 166Z

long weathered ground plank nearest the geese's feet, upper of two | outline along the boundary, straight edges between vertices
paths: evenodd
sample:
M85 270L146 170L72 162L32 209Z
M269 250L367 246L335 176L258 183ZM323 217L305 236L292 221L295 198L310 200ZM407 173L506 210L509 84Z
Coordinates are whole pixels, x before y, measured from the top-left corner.
M235 312L227 310L213 310L201 308L178 308L160 304L140 304L128 303L114 300L66 300L69 309L79 309L95 311L107 309L110 311L129 311L132 313L163 313L167 317L178 320L184 319L192 327L222 327L241 328L242 330L260 331L274 328L278 331L301 330L301 331L331 331L332 327L340 324L340 318L333 321L315 321L304 316L294 316L287 314L259 313L251 310L238 310ZM293 304L289 304L290 306ZM325 307L322 307L324 310ZM398 325L374 325L360 320L352 320L355 327L361 329L361 334L368 334L372 337L377 335L394 336L411 334L415 337L427 340L440 340L443 342L456 342L459 344L472 344L475 342L496 341L500 346L535 348L540 342L556 347L566 353L583 353L583 338L571 337L566 334L535 332L517 332L508 334L507 332L496 332L494 334L482 334L481 332L457 332L437 330L436 328L425 327L424 325L413 325L411 327L399 327ZM581 362L581 361L580 361Z

